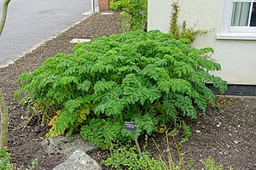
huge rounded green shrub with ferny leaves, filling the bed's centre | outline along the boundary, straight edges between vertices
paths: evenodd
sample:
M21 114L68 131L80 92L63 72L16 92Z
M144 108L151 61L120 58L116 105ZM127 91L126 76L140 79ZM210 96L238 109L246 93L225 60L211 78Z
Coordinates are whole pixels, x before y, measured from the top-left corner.
M188 39L160 31L127 32L76 45L55 54L37 70L22 73L15 92L21 103L52 117L48 135L80 133L100 147L127 141L124 122L137 122L137 135L158 130L179 116L214 105L205 82L223 93L226 82L209 74L220 65L212 48L196 49Z

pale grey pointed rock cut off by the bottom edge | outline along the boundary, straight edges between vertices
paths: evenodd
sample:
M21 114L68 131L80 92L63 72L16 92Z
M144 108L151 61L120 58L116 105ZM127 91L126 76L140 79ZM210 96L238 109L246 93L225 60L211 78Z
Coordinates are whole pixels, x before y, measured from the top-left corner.
M76 150L68 159L53 170L101 170L99 164L83 150Z

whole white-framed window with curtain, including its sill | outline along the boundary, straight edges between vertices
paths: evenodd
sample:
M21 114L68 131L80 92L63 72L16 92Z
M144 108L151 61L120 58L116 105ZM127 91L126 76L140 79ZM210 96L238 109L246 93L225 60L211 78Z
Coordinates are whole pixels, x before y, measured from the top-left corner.
M256 0L224 0L218 39L256 40Z

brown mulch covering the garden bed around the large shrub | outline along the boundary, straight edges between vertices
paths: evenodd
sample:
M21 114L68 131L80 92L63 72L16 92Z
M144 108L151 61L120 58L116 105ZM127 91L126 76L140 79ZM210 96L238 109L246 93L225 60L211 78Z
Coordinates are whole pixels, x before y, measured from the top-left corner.
M0 88L9 107L9 150L15 167L26 167L32 159L38 158L36 169L52 169L65 160L61 155L47 156L39 144L48 127L41 127L36 118L26 124L29 115L26 106L19 105L13 98L15 90L19 88L17 77L24 71L33 71L56 53L72 53L73 44L69 42L73 38L95 38L120 33L120 20L119 13L91 15L18 59L15 64L0 68ZM256 169L256 99L219 98L218 101L221 107L209 108L206 113L199 113L196 121L188 120L193 135L180 150L186 164L188 167L201 169L201 161L212 156L214 161L224 167ZM161 150L166 150L165 135L156 134L153 138ZM141 144L143 145L143 140ZM147 145L147 150L157 153L151 137ZM92 153L91 156L100 161L104 157L101 154L105 152Z

